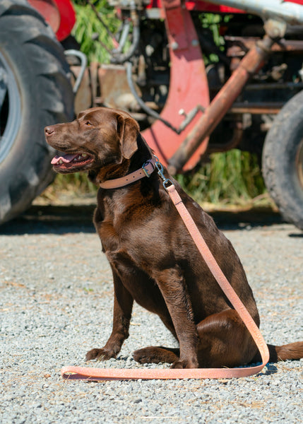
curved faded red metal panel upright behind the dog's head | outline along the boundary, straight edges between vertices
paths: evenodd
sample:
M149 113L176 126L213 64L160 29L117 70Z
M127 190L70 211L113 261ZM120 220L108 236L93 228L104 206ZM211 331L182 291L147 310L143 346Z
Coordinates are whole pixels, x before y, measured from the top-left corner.
M165 23L170 43L170 91L165 108L161 116L175 127L184 120L179 110L186 113L201 105L209 104L208 81L204 67L201 49L198 45L198 35L191 20L189 11L182 8L180 0L174 0L174 7L169 0L162 1L165 9ZM194 120L181 134L176 134L162 122L157 121L143 135L160 160L167 164L168 159L177 151L187 134L194 128L201 117L198 112ZM201 155L206 151L208 139L184 166L189 170L198 163Z

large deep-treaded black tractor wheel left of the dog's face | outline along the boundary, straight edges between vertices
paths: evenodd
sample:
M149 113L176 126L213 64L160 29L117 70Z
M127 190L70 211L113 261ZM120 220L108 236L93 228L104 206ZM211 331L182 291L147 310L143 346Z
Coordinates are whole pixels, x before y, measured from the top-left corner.
M0 89L2 83L6 93L0 102L4 223L25 211L54 179L54 151L45 142L44 126L73 118L64 51L42 16L24 0L0 2L0 71Z

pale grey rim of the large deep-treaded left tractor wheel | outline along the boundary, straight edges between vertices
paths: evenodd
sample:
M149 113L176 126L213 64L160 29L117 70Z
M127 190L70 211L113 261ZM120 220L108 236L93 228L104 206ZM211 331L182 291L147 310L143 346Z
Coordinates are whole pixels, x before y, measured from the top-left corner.
M0 52L0 163L8 155L21 124L20 93L15 76Z

